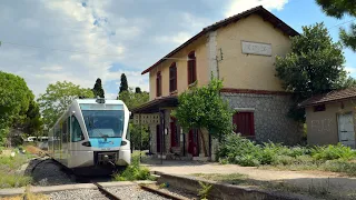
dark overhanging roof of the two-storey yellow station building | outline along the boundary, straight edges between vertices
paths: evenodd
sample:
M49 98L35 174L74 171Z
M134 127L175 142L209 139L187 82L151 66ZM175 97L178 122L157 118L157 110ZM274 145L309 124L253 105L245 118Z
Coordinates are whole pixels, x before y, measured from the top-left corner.
M259 14L261 18L264 18L264 20L269 21L271 24L274 24L275 28L280 29L283 32L285 32L288 36L294 37L294 36L298 36L299 34L296 30L290 28L287 23L283 22L279 18L277 18L275 14L270 13L264 7L261 7L261 6L255 7L253 9L246 10L246 11L244 11L241 13L238 13L238 14L235 14L233 17L226 18L226 19L224 19L221 21L218 21L218 22L216 22L216 23L214 23L211 26L208 26L208 27L204 28L199 33L197 33L196 36L190 38L188 41L186 41L185 43L182 43L181 46L179 46L178 48L172 50L170 53L168 53L162 59L158 60L154 66L151 66L148 69L144 70L141 72L141 74L145 74L145 73L149 72L151 69L154 69L159 63L165 61L165 58L171 57L172 54L175 54L176 52L178 52L182 48L187 47L192 41L195 41L198 38L200 38L201 36L204 36L205 33L207 33L209 31L215 31L215 30L219 29L220 27L228 26L231 22L236 22L236 21L238 21L240 19L244 19L244 18L247 18L248 16L254 14L254 13Z

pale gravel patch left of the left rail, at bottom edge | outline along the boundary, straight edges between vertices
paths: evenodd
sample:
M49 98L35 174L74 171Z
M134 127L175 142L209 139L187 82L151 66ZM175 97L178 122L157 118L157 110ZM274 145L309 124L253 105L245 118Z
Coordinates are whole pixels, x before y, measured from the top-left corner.
M81 189L59 191L49 194L51 200L107 200L99 190Z

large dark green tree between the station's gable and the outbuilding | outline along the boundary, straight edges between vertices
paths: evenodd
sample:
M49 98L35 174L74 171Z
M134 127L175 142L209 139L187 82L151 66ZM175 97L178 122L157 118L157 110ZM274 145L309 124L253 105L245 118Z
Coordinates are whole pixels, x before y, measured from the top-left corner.
M283 87L294 93L291 118L304 121L305 111L297 107L303 100L355 83L344 62L342 44L333 42L324 23L303 27L303 33L291 38L291 52L275 62Z

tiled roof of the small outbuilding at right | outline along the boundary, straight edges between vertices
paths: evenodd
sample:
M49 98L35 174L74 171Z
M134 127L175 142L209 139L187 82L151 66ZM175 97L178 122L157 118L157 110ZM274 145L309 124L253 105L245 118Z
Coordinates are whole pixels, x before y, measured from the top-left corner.
M299 103L299 107L310 107L315 104L342 101L346 99L356 99L356 87L347 88L344 90L334 90L328 93L312 97Z

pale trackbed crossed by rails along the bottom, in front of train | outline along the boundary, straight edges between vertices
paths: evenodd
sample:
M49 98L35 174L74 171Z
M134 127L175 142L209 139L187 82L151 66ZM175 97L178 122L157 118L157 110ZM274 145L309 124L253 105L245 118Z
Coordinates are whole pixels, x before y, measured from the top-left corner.
M108 182L91 182L53 187L31 187L28 191L17 191L4 193L0 190L0 197L23 197L41 193L44 199L51 200L187 200L188 198L176 193L159 191L149 184L140 184L137 182L121 182L109 184ZM1 198L0 198L1 199ZM10 198L11 199L11 198Z

